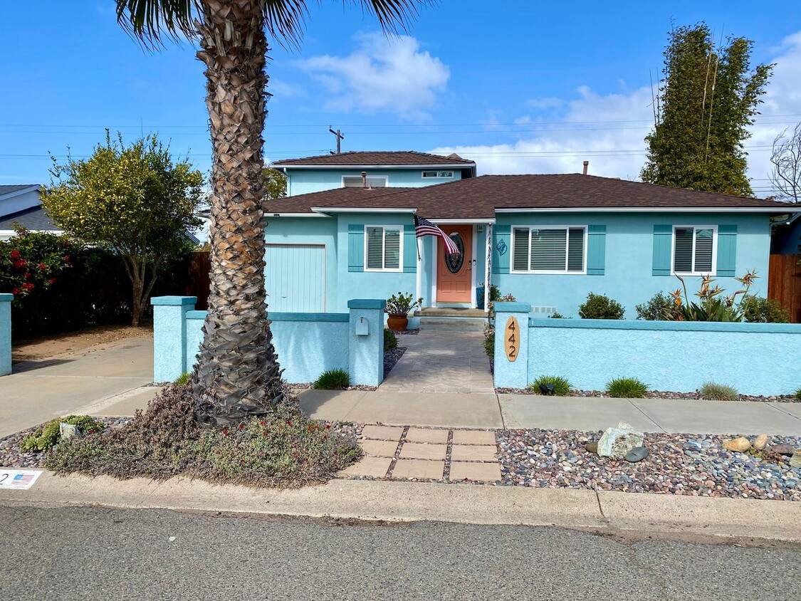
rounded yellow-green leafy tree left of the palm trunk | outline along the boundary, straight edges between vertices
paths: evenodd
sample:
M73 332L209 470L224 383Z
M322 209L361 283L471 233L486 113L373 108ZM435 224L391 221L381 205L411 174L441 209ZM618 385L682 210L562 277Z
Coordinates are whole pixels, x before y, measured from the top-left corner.
M174 163L156 135L126 146L118 134L90 159L58 164L42 206L65 232L86 244L113 248L133 287L131 325L139 325L159 268L190 245L203 175Z

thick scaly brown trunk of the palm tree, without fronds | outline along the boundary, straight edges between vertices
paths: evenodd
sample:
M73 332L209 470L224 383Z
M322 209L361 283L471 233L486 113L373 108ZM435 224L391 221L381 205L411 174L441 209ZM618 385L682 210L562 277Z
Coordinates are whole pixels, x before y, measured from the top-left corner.
M198 23L211 118L211 290L192 376L199 421L227 425L283 401L264 292L268 51L258 0L203 0Z

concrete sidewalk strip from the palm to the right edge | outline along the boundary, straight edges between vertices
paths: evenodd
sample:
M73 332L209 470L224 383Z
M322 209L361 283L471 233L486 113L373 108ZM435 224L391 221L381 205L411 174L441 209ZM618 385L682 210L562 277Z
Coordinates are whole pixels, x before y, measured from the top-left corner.
M312 417L444 428L605 430L628 422L644 432L801 435L801 403L689 401L529 394L304 390Z

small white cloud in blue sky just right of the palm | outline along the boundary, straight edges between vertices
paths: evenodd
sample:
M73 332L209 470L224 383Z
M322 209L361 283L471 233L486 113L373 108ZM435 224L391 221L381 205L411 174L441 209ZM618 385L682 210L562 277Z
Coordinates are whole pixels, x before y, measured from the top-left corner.
M296 61L328 91L324 108L343 112L390 112L404 119L429 119L437 93L445 91L449 68L407 35L356 36L348 56L314 56Z

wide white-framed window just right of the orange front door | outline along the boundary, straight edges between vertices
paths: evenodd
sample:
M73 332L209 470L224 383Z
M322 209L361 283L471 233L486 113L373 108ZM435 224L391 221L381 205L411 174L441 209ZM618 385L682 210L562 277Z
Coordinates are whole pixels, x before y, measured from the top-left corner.
M586 273L586 226L512 228L512 272Z

